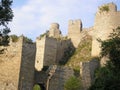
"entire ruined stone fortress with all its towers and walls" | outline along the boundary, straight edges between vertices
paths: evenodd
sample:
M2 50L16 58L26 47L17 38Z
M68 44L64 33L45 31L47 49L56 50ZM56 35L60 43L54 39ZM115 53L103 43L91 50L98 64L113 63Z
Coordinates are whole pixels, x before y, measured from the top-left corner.
M103 7L107 9L104 10ZM117 11L114 3L108 3L99 7L91 28L82 28L81 20L70 20L68 36L62 37L59 24L53 23L49 32L38 37L34 44L25 43L23 36L20 36L18 42L1 46L5 50L0 54L0 90L32 90L35 84L41 85L43 90L63 90L65 81L74 75L71 67L58 66L65 50L77 48L81 40L90 35L91 56L99 56L100 44L97 39L108 39L108 35L118 26L120 11ZM46 66L49 69L42 73ZM80 62L83 90L91 85L97 67L94 60Z

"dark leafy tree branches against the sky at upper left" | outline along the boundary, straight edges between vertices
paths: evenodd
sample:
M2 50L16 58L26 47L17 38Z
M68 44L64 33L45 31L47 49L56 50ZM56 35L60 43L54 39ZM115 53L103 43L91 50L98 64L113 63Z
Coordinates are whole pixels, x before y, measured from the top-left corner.
M12 0L1 0L0 1L0 45L8 44L8 33L10 28L8 27L9 22L13 19L13 12L11 9Z

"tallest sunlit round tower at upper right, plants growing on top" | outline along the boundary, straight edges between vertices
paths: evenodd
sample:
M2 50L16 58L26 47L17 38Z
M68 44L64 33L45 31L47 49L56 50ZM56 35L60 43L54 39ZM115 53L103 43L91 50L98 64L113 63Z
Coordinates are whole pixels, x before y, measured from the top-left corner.
M120 13L114 3L101 6L96 13L94 22L94 35L92 41L92 56L100 54L100 43L97 39L106 40L113 29L120 26Z

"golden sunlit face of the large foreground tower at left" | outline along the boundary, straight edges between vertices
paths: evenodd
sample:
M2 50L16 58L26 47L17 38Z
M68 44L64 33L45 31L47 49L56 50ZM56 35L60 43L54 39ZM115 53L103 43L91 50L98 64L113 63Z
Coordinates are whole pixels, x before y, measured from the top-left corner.
M0 90L18 90L23 38L10 43L0 54ZM2 48L2 47L0 47Z

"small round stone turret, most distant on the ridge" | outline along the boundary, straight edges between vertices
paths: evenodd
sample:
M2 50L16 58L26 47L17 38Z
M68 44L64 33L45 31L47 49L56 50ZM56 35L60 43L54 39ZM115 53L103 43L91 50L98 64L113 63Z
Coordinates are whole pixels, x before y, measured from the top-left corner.
M61 31L59 29L58 23L52 23L49 30L49 36L54 38L60 38L61 37Z

